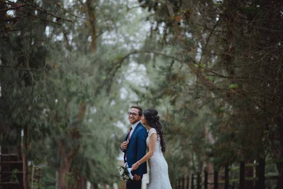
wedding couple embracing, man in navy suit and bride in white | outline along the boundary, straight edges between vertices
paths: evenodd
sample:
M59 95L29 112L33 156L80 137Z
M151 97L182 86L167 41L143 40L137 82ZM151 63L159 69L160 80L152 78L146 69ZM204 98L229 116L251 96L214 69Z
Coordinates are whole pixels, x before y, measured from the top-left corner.
M141 189L142 175L147 173L147 160L150 168L148 189L172 189L168 166L162 154L165 143L158 111L147 109L142 113L140 106L132 106L128 118L132 126L121 144L121 150L124 152L124 162L129 168L132 167L134 180L127 181L127 189Z

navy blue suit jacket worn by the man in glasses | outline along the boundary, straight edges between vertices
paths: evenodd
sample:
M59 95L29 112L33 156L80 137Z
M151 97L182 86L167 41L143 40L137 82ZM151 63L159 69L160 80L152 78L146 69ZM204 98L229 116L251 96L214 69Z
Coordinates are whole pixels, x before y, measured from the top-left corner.
M128 134L129 133L126 134L124 141L128 139ZM146 138L147 131L144 126L139 123L131 135L127 149L122 150L124 152L124 162L128 163L129 168L131 168L134 163L141 160L142 157L146 154ZM127 160L125 159L126 154ZM139 168L134 170L132 173L133 175L138 174L140 176L146 174L146 162L141 164Z

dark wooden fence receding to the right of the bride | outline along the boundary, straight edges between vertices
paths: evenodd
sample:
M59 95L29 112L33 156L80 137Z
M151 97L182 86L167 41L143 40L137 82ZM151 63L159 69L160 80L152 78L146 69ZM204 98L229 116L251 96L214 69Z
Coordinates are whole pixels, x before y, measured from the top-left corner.
M229 168L228 165L224 166L222 173L224 173L224 180L219 180L219 172L214 171L209 173L204 171L202 174L192 173L189 176L183 176L179 178L174 189L208 189L208 185L212 185L213 189L219 189L219 185L222 185L222 189L235 189L235 184L239 184L238 189L247 189L245 188L245 181L255 181L256 189L265 189L265 180L279 180L283 179L282 176L266 176L265 175L265 165L283 163L283 159L264 161L260 159L257 163L245 164L245 162L240 162L240 166ZM255 168L255 176L247 177L245 176L245 168ZM239 177L234 179L229 179L229 173L232 171L240 170ZM213 175L213 182L208 181L208 175Z

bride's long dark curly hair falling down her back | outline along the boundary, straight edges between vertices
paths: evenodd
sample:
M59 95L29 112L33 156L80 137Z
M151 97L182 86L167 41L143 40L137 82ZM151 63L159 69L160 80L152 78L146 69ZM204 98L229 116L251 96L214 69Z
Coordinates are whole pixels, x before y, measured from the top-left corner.
M152 128L155 128L157 131L157 136L159 136L160 144L161 144L161 151L165 152L165 142L163 139L163 131L162 125L159 122L158 111L156 109L146 109L143 112L143 116L146 120L146 124Z

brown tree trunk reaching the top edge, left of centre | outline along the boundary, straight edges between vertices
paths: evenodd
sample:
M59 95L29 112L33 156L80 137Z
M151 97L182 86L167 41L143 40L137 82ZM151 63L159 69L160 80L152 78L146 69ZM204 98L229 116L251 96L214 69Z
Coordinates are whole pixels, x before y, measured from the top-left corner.
M94 0L86 0L87 14L91 27L91 52L96 51L96 17L95 17L95 4Z

